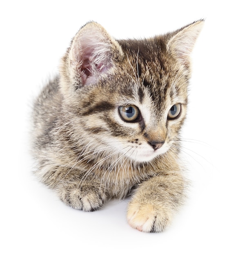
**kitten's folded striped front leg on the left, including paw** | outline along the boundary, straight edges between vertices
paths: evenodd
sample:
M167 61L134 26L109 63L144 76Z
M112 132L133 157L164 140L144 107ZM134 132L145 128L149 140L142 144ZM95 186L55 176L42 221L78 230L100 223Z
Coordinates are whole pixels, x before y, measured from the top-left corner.
M58 167L47 172L42 180L56 190L60 200L74 209L94 211L109 199L105 184L91 175L82 175L78 170Z

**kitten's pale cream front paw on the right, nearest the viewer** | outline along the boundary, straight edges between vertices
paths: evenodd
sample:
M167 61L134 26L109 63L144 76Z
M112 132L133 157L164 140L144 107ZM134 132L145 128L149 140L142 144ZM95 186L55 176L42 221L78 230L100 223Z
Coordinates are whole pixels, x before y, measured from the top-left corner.
M127 220L131 227L144 232L161 232L170 224L170 211L162 205L142 204L131 201Z

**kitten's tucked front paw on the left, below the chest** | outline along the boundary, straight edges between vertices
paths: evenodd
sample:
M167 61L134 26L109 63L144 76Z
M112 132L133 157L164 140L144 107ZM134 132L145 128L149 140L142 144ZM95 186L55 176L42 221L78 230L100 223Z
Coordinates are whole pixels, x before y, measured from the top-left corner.
M102 184L76 183L61 185L58 189L60 200L77 210L95 211L102 207L109 198L109 193Z

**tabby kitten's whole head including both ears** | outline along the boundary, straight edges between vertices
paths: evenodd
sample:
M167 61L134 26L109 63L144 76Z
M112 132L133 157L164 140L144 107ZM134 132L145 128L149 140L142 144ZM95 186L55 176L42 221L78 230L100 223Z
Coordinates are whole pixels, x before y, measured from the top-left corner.
M177 151L189 54L202 25L143 40L115 40L95 22L82 27L60 67L63 107L78 147L136 162Z

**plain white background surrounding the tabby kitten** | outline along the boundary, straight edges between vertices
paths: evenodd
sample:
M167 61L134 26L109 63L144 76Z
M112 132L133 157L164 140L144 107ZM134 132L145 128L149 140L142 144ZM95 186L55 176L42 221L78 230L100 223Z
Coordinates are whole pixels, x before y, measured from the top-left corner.
M0 255L238 255L235 1L3 1L0 4ZM89 20L116 38L146 37L206 18L183 129L189 199L169 229L127 224L128 200L96 212L65 206L31 173L31 103Z

